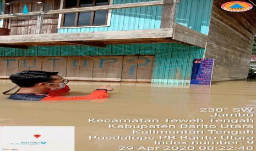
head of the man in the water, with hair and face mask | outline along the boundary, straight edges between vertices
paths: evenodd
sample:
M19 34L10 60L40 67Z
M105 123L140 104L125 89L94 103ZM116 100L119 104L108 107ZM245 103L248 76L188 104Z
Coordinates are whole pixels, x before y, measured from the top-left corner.
M9 77L13 83L20 88L42 87L42 88L59 88L59 83L63 83L64 79L58 75L58 72L46 71L22 71L12 74Z

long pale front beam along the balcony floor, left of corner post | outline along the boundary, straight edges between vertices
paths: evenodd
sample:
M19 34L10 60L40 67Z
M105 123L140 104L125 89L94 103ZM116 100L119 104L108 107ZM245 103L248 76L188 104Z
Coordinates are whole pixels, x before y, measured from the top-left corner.
M72 42L89 40L118 40L118 39L146 39L171 38L173 29L133 30L133 31L101 31L80 33L50 33L0 36L0 44L37 43L37 42Z

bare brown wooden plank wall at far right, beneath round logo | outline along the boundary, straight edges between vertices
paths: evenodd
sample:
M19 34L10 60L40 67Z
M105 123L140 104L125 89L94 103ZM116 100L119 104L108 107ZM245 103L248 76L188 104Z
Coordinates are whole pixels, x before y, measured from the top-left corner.
M214 0L206 58L215 58L213 81L246 79L256 30L256 7L241 13L220 8ZM248 1L246 1L248 2Z

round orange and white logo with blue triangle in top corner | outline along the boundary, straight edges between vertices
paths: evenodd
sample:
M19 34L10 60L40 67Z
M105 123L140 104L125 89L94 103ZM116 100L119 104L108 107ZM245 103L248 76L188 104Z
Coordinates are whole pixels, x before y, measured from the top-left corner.
M253 8L253 5L247 2L233 1L221 5L221 8L226 11L242 12Z

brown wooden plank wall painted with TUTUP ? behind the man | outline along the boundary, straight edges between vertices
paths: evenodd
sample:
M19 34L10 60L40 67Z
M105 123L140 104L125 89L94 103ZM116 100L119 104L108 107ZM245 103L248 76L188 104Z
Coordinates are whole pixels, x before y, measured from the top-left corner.
M154 56L0 57L0 78L27 69L55 71L70 80L151 82Z

